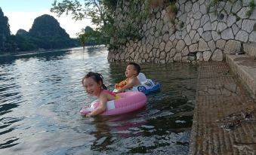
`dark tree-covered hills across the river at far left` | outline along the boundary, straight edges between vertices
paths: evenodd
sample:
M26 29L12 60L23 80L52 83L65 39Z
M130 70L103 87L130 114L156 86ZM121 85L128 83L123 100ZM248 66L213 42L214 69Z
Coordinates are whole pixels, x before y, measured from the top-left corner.
M35 18L29 32L19 29L16 35L11 35L8 17L4 16L0 8L0 53L77 46L79 41L69 38L60 23L48 14Z

